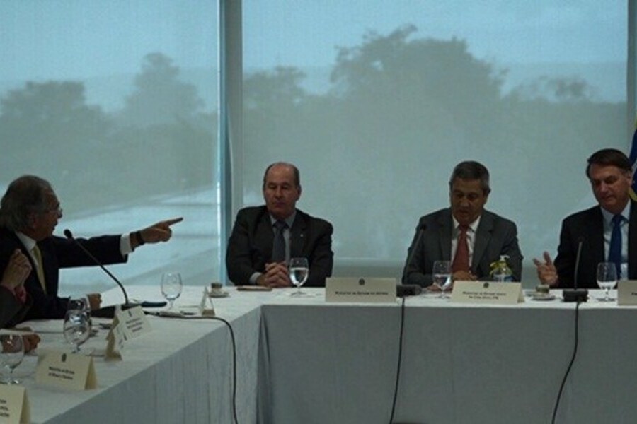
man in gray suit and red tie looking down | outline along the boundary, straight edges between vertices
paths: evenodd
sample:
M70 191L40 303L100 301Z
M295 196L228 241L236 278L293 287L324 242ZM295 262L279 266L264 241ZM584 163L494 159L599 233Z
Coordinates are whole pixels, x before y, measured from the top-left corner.
M484 210L490 193L489 172L481 163L461 162L449 179L450 208L418 221L408 249L403 283L432 285L434 261L454 261L454 281L490 279L491 264L508 257L512 278L522 276L522 253L512 221Z

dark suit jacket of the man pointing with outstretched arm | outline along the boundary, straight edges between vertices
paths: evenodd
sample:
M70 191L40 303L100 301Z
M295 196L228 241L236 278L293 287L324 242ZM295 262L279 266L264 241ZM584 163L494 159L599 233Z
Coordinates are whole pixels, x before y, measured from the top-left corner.
M125 262L127 257L120 253L120 236L104 235L89 240L78 240L88 252L91 252L103 264ZM57 296L59 269L75 266L94 266L95 263L74 242L62 237L49 237L38 242L42 254L42 268L45 274L47 293L42 290L36 267L30 253L24 247L15 232L0 229L0 269L6 268L15 249L21 249L29 258L32 271L24 283L27 293L33 298L33 306L25 319L60 319L67 312L67 298Z

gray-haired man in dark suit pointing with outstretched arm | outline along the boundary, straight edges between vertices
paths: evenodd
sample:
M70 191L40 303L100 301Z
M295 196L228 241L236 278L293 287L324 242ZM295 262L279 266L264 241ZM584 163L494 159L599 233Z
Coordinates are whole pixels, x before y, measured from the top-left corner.
M0 269L19 249L33 269L24 283L33 298L25 319L59 319L67 311L67 298L57 296L59 269L96 265L73 240L55 237L53 231L62 208L51 184L33 175L24 175L9 184L0 201ZM183 218L151 225L130 235L106 235L89 240L77 239L103 264L127 261L128 254L144 243L168 241L170 226ZM98 293L88 295L91 309L101 304Z

